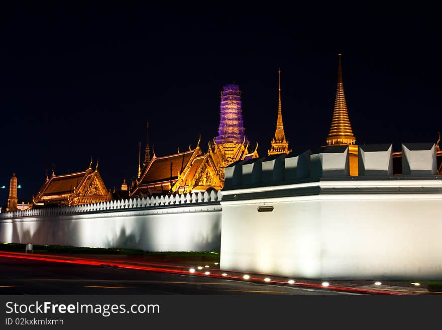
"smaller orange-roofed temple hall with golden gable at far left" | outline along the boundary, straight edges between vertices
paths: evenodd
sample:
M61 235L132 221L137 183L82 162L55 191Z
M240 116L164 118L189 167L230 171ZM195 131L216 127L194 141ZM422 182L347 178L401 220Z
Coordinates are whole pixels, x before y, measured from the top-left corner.
M112 200L112 194L106 189L98 173L98 162L93 170L91 161L89 167L82 172L55 175L52 170L51 177L46 176L46 181L32 198L32 207L74 206L109 200Z

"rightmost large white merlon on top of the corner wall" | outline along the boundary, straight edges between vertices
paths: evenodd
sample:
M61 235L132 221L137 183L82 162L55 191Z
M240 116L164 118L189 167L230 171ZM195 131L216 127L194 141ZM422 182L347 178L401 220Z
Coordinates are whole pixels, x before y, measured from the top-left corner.
M402 175L436 175L434 143L402 144Z

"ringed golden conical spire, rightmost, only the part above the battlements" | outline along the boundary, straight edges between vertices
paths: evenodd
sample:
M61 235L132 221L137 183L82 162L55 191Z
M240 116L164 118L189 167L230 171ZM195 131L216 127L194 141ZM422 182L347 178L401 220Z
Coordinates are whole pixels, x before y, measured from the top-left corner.
M335 110L333 112L332 126L328 133L326 142L331 144L355 144L356 138L353 135L350 125L347 103L344 94L344 83L342 79L341 54L338 54L338 86L336 89Z

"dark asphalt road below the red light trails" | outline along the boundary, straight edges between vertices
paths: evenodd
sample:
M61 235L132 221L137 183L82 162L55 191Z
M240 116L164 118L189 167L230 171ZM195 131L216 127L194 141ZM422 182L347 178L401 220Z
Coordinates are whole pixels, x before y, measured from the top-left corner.
M0 294L354 294L194 275L0 257Z

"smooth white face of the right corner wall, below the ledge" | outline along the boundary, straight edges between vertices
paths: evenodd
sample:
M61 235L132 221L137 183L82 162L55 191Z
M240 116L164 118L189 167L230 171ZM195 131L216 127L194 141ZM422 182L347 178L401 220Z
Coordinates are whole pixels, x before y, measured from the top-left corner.
M274 210L258 212L260 205ZM442 194L222 201L220 267L295 278L442 279L441 205Z

